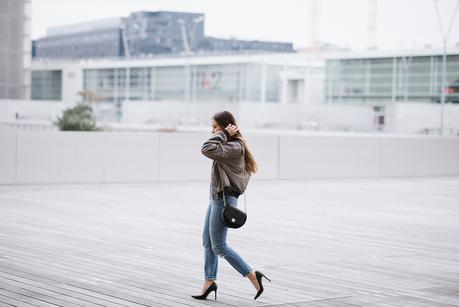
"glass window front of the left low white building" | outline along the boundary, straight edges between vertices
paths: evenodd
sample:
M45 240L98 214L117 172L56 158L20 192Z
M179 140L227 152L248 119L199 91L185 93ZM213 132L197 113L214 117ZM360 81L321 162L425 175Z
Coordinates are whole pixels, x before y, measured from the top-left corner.
M104 101L261 101L265 69L266 102L278 102L280 65L203 64L85 69L83 90ZM129 76L127 74L129 73ZM126 86L129 82L129 88ZM128 99L126 99L128 97Z

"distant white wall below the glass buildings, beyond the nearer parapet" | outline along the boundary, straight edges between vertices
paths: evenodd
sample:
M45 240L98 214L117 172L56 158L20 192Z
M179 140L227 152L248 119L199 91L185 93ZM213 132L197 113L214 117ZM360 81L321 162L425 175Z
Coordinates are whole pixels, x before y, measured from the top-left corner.
M72 71L65 74L72 75ZM73 75L72 78L81 79ZM76 95L76 94L75 94ZM69 100L75 100L70 99ZM56 101L0 100L0 120L15 121L18 113L25 120L55 120L76 103ZM110 105L94 106L96 113L107 116L99 123L114 120L115 109ZM130 101L123 104L123 123L158 124L162 126L209 126L213 114L231 111L246 128L274 127L280 129L371 132L374 112L369 105L304 105L260 102L177 102ZM111 115L110 115L111 114ZM384 132L421 134L426 129L435 133L440 126L440 105L430 103L394 103L386 105ZM103 117L103 116L102 116ZM103 120L102 120L103 119ZM459 105L445 106L445 130L459 131Z

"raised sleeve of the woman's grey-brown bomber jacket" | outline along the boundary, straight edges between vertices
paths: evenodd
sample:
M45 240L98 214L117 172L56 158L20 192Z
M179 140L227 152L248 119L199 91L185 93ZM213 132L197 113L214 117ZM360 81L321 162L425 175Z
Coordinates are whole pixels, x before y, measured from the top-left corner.
M229 133L226 130L214 133L202 145L202 154L212 160L235 158L242 155L242 144L239 142L228 142L228 139Z

